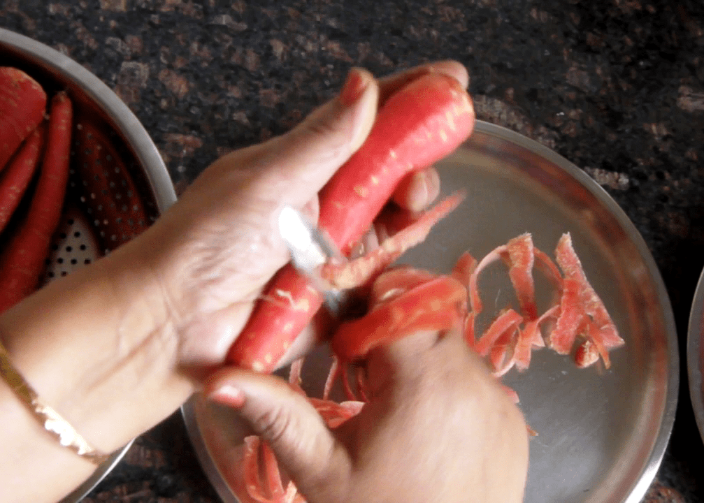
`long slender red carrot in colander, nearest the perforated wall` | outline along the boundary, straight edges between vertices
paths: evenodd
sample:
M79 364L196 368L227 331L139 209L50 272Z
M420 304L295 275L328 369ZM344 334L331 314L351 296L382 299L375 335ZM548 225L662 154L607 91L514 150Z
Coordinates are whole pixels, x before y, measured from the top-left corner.
M73 107L65 93L51 100L39 182L29 212L0 261L0 312L30 295L39 283L51 237L61 219L68 181Z

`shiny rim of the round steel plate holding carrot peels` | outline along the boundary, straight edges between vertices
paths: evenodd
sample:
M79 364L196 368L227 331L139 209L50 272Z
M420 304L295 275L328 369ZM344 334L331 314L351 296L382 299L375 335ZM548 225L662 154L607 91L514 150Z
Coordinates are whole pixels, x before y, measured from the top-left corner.
M496 136L503 141L510 141L517 146L525 148L528 151L545 158L549 162L567 172L567 174L573 177L601 204L603 204L618 224L620 224L629 240L636 248L639 257L643 260L643 265L645 265L648 270L648 274L653 281L655 294L657 295L660 306L662 307L663 326L667 340L665 353L667 356L668 368L667 379L665 381L665 403L662 407L662 417L660 417L659 421L660 428L658 429L658 434L656 435L653 442L653 447L650 450L650 455L643 466L639 478L636 480L636 483L631 486L629 493L623 502L638 503L646 495L648 488L650 488L650 485L653 483L655 475L660 468L662 459L665 457L665 450L667 449L667 444L670 441L670 435L672 434L672 427L674 425L675 412L677 411L677 393L679 390L679 349L677 345L677 326L674 321L670 296L667 294L667 288L665 287L665 281L663 281L662 275L660 274L660 269L658 269L655 259L650 253L650 249L648 248L646 241L643 239L643 236L641 236L641 233L638 229L636 229L635 225L631 222L631 219L629 219L624 210L622 210L622 208L616 203L610 194L603 189L602 186L597 184L591 177L589 177L588 174L577 167L577 165L562 157L562 155L556 153L551 148L540 144L538 141L529 139L527 136L512 131L511 129L491 124L490 122L477 120L476 125L474 126L474 132L481 132L489 136ZM463 148L463 146L460 146L460 148ZM704 286L702 295L704 295ZM201 467L206 473L208 480L210 480L210 483L213 484L213 488L215 488L216 492L218 492L218 495L222 498L223 502L237 503L237 498L234 497L230 488L227 487L220 471L217 466L215 466L215 462L212 457L210 457L208 447L205 445L205 442L201 436L195 415L195 407L193 404L194 400L195 397L191 397L191 399L181 407L181 413L187 433L191 440L191 444L194 446L196 456L199 458ZM704 409L702 412L702 420L704 421ZM704 424L704 422L702 424Z

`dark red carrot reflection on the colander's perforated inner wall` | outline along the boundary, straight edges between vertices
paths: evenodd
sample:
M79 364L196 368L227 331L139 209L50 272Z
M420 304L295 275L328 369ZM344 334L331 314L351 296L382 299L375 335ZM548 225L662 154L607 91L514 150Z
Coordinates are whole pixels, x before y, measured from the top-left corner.
M102 251L114 250L149 227L144 201L113 141L92 122L76 125L74 145L81 205L96 227Z

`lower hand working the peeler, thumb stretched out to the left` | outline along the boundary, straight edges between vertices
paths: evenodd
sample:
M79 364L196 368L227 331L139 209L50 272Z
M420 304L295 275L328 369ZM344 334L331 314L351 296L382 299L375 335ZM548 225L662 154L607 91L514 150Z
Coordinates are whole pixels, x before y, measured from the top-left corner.
M522 501L527 426L459 333L372 350L372 398L329 431L275 376L223 369L211 400L239 409L309 503Z

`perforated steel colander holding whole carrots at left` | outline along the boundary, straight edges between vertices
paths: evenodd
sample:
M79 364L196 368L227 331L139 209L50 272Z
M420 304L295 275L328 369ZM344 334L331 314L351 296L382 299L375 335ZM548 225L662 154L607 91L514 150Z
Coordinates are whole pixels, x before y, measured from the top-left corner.
M118 96L49 46L0 28L0 64L24 70L51 95L68 92L75 110L71 174L44 282L70 274L142 232L176 200L149 134ZM127 452L125 446L61 503L84 497Z

